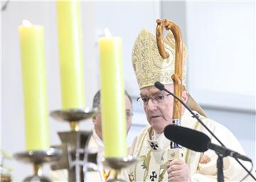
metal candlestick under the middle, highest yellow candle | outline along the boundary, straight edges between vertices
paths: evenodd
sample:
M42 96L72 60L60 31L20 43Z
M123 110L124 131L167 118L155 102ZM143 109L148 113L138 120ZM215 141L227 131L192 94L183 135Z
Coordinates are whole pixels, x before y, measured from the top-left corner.
M87 170L97 170L97 154L87 149L92 131L79 130L79 123L96 113L97 110L92 108L55 110L50 113L56 120L70 124L70 131L58 132L63 144L57 148L63 150L63 155L51 166L53 170L68 169L68 181L85 181Z

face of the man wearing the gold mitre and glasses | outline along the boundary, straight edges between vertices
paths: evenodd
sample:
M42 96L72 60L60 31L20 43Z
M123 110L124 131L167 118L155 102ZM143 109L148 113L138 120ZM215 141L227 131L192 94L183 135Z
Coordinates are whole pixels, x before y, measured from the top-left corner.
M165 85L165 88L171 92L174 91L174 85ZM166 91L159 91L154 86L148 86L140 90L142 97L150 98L147 104L144 105L144 110L146 113L146 118L149 124L157 133L164 132L164 127L170 125L172 121L172 115L174 110L174 98L169 95ZM153 101L151 97L154 96L164 96L164 100L161 103ZM188 98L187 91L183 91L183 101Z

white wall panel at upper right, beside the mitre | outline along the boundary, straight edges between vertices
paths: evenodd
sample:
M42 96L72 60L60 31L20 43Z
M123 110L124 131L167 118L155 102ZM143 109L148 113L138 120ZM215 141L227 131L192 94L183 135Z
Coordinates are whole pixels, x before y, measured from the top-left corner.
M188 2L186 25L193 96L255 112L255 2Z

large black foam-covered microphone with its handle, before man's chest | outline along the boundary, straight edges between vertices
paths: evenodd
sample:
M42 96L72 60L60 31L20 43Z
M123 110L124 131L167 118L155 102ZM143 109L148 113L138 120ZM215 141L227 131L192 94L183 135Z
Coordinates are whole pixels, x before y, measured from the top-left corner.
M250 158L239 154L238 152L219 146L218 144L213 144L206 134L192 130L188 127L167 125L164 128L164 135L169 140L196 152L206 152L206 150L212 149L223 157L230 156L235 159L242 159L243 161L252 161Z

